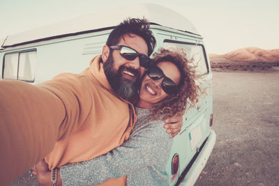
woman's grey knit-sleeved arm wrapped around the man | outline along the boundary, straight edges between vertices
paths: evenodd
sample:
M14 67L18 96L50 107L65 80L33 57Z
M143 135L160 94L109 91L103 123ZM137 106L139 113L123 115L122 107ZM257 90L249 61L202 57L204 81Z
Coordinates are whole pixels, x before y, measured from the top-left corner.
M96 185L137 172L143 166L167 162L172 139L162 126L162 122L152 123L135 131L128 141L110 153L62 166L63 185Z

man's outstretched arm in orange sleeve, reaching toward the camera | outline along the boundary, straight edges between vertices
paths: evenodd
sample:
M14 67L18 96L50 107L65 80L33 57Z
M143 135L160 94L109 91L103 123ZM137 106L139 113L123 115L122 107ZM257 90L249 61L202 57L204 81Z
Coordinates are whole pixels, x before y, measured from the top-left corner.
M80 105L90 96L76 84L77 78L63 76L36 86L0 81L1 184L8 185L42 160L58 139L82 123L86 111Z

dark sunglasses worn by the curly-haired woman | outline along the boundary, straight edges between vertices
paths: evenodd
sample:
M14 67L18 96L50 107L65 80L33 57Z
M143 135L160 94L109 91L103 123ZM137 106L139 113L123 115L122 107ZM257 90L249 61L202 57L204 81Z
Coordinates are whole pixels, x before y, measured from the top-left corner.
M158 66L152 66L151 68L147 69L146 75L148 75L153 80L161 79L163 77L164 79L161 87L163 91L165 91L165 93L169 95L177 93L179 91L179 86L175 84L172 79L166 77L164 75L164 72L160 68L158 68Z

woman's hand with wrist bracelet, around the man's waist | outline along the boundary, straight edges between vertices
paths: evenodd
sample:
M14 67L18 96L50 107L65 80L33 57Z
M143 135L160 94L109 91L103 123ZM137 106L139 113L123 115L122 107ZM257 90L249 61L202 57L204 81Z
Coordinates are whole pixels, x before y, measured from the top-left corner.
M52 181L50 180L50 170L45 160L41 160L34 167L32 167L33 175L37 176L38 182L45 186L52 186ZM57 171L57 182L56 186L62 185L60 169Z

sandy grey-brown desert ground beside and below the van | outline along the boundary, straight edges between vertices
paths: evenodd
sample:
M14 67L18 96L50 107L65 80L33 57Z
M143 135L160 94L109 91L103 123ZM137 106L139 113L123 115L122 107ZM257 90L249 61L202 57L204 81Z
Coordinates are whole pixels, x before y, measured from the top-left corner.
M279 185L279 69L213 72L216 146L198 185ZM27 171L10 185L38 185Z

